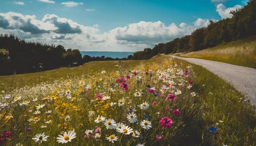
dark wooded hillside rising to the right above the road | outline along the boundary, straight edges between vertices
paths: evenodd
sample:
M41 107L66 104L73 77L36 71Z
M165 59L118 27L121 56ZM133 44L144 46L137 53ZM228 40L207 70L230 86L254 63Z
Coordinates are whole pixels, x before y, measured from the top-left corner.
M230 13L233 14L232 18L210 21L207 27L196 29L191 35L156 44L153 49L146 48L129 55L128 59L149 59L157 54L202 50L256 34L256 0L251 0L242 9Z

